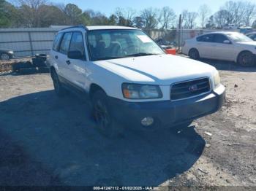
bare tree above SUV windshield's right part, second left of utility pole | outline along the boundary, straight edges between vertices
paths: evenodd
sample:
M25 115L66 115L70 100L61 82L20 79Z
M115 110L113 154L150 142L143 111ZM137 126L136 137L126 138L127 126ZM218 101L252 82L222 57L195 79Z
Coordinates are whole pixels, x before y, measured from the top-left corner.
M157 28L157 10L153 8L143 9L140 17L143 20L144 28Z

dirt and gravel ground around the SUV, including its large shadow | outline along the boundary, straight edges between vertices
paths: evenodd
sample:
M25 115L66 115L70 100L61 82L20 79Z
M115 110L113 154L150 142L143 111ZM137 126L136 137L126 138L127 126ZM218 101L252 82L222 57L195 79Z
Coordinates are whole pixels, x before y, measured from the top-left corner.
M0 185L256 189L256 68L205 62L227 87L221 111L181 131L113 140L94 130L86 103L56 97L49 74L1 75Z

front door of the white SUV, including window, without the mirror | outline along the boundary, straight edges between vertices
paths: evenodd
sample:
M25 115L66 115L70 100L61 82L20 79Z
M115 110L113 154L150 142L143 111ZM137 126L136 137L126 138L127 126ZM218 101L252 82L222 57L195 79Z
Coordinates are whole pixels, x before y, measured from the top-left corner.
M69 76L72 82L78 87L84 87L86 85L86 53L82 32L73 32L69 51L78 51L83 55L82 59L67 58L67 63L69 63Z

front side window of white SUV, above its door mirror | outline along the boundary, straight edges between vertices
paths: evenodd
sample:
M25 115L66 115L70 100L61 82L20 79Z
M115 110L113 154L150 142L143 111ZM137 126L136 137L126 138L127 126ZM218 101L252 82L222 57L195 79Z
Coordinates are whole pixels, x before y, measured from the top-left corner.
M85 55L83 35L80 32L74 32L70 42L69 51L79 51L82 55Z

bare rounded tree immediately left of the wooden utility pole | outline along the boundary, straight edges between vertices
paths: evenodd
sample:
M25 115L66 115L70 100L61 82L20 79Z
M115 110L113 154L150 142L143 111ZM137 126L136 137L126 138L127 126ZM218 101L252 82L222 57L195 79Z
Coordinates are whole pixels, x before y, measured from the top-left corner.
M176 20L176 14L170 7L162 7L161 10L159 10L159 17L158 21L162 29L168 29L171 28L171 25Z

